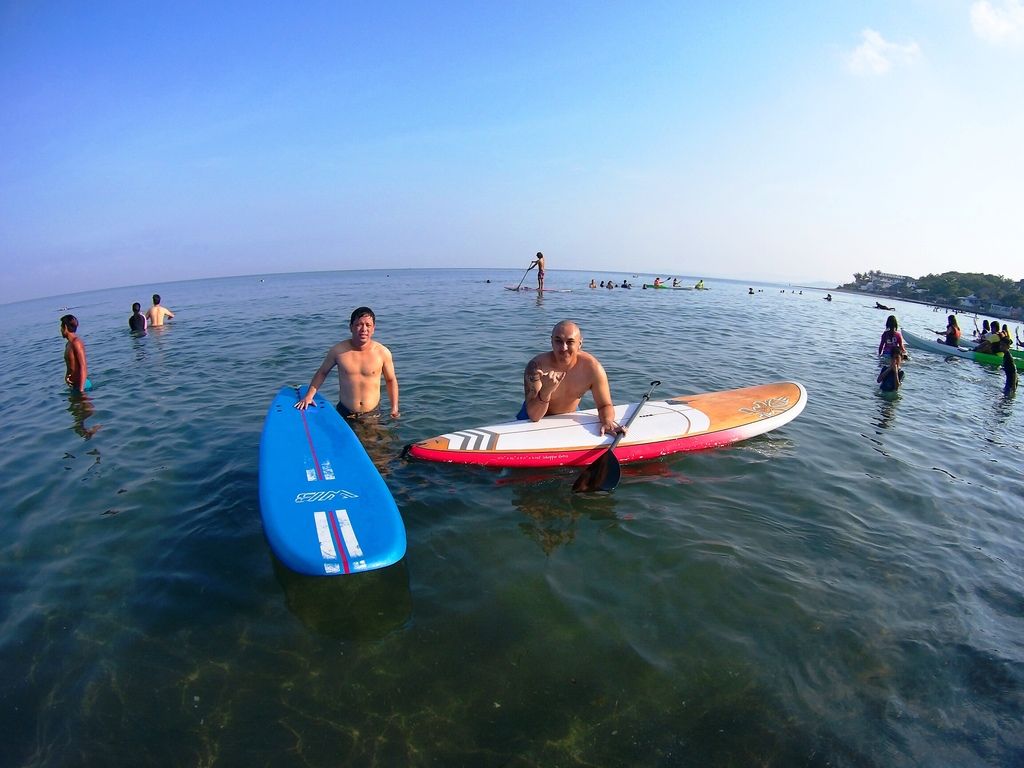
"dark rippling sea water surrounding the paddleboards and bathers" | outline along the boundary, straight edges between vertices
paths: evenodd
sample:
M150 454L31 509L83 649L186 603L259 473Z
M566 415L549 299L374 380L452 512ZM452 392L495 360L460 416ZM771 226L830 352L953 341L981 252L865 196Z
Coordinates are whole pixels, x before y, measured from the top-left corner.
M548 285L571 293L503 290L521 276L273 274L0 306L0 765L1024 762L1024 402L999 371L911 350L886 397L870 297L592 291L629 275L558 270ZM133 338L131 302L154 291L177 316ZM302 578L263 539L262 419L359 304L401 386L401 418L361 436L409 551ZM944 327L896 305L910 330ZM62 385L66 306L85 400ZM565 317L616 401L655 378L660 396L794 379L808 406L627 466L609 496L571 494L574 470L400 458L514 415Z

